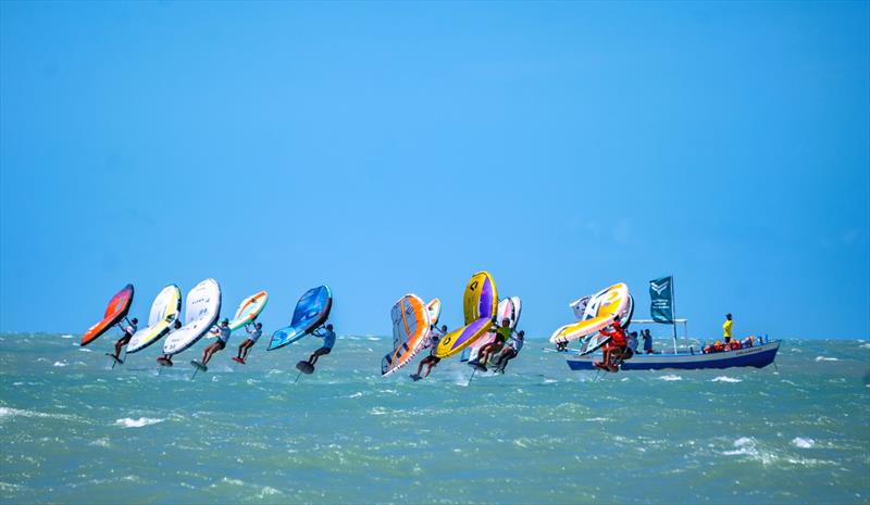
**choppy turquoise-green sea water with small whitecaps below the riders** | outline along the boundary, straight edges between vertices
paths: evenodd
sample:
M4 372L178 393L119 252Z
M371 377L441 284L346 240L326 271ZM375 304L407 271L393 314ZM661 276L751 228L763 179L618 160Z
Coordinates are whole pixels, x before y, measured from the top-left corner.
M79 336L0 334L0 503L870 503L870 344L778 367L571 371L531 340L504 376L382 379L389 339L159 344L115 369ZM236 342L237 343L237 342ZM407 368L410 371L410 368ZM402 370L405 371L405 370Z

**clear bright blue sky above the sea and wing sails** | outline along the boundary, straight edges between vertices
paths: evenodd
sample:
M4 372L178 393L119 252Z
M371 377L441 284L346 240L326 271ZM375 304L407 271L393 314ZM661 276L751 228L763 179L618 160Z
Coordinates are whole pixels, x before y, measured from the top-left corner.
M695 337L868 338L869 5L2 1L0 330L206 277L452 327L488 269L534 337L673 274Z

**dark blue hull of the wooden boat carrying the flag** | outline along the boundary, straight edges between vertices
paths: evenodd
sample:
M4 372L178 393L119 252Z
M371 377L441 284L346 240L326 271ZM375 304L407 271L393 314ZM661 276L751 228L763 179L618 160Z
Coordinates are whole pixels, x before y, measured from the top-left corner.
M754 366L763 368L776 357L780 350L780 340L768 342L753 348L739 349L711 354L635 354L634 357L624 362L622 370L699 370L705 368L731 368L737 366ZM572 370L595 370L593 362L600 359L598 356L571 356L568 358L568 366Z

